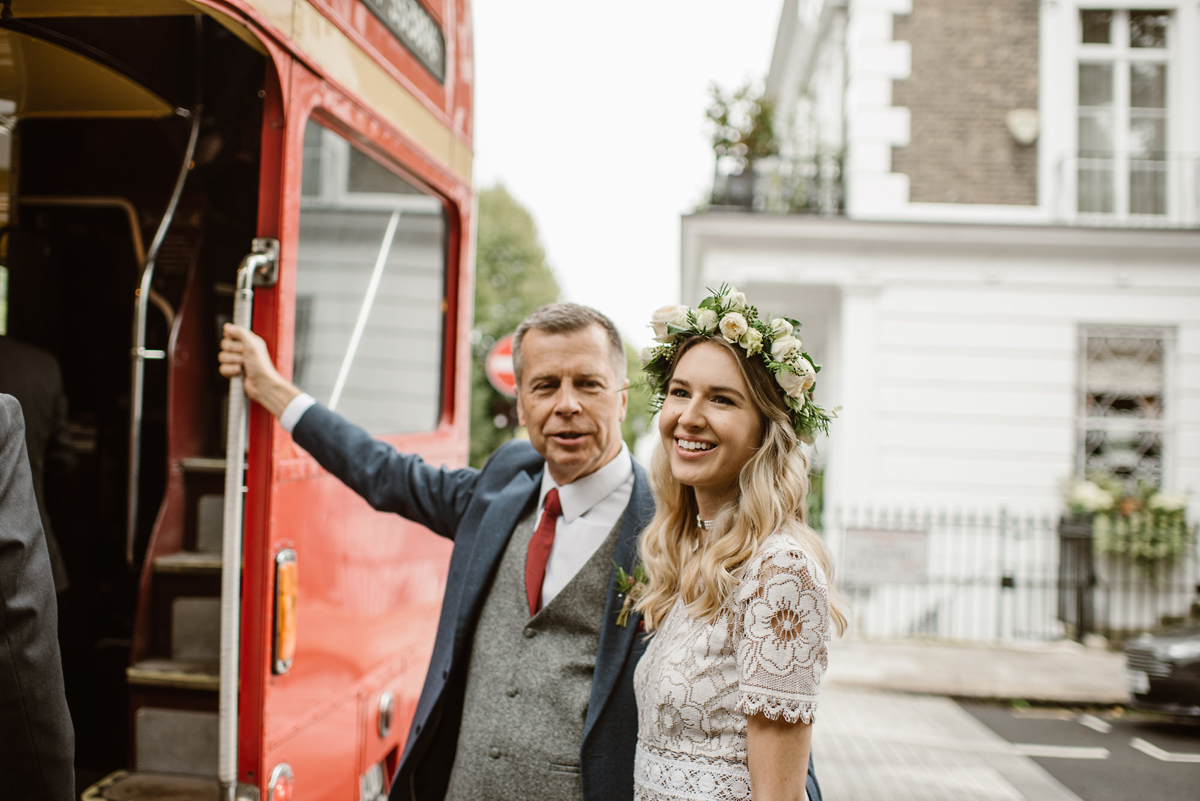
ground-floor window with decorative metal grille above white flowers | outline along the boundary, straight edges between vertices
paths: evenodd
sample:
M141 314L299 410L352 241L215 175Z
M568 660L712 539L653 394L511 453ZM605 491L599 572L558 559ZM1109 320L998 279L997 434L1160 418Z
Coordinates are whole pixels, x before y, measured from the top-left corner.
M1172 342L1165 329L1081 330L1079 474L1111 475L1129 490L1162 486Z

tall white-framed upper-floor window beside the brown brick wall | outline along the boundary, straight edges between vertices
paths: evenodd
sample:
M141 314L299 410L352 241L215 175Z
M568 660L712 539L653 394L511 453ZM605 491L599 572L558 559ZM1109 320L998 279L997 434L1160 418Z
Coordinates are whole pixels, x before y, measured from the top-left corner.
M1165 215L1171 14L1079 13L1076 210Z

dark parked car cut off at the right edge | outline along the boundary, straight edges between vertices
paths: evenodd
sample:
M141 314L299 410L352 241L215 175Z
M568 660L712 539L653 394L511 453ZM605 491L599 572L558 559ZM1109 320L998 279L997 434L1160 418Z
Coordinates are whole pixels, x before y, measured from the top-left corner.
M1200 716L1200 626L1126 643L1126 674L1134 706Z

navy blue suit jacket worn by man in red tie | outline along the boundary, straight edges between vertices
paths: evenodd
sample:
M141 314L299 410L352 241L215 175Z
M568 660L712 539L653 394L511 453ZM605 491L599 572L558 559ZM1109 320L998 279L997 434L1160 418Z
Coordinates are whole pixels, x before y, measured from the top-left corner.
M482 470L433 468L320 405L304 414L293 435L374 508L454 540L433 656L391 790L391 801L440 801L458 742L475 622L517 519L538 499L545 462L533 446L518 441L500 447ZM653 516L646 472L635 463L634 493L613 556L626 571L634 567L637 536ZM637 636L640 616L617 626L619 608L610 583L580 745L587 801L634 797L634 668L646 642Z

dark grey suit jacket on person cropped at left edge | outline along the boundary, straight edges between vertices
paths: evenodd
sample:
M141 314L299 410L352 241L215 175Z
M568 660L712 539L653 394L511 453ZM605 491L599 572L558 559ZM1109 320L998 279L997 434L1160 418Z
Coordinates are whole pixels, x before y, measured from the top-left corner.
M25 457L20 404L0 395L0 797L74 797L50 560Z

